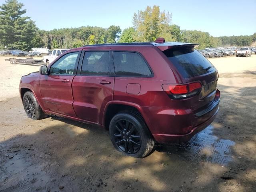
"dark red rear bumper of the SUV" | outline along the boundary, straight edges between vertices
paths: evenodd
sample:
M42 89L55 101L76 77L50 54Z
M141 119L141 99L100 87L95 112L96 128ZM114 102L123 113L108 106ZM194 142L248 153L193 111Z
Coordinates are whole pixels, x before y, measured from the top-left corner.
M219 110L220 91L217 90L214 102L199 111L191 109L156 108L148 109L152 135L159 143L185 142L209 126Z

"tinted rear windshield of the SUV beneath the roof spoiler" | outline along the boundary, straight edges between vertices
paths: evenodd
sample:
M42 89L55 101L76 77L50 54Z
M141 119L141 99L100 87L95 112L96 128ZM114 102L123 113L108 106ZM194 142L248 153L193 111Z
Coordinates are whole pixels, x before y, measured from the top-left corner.
M215 70L213 65L194 48L174 48L164 51L184 78L199 76Z

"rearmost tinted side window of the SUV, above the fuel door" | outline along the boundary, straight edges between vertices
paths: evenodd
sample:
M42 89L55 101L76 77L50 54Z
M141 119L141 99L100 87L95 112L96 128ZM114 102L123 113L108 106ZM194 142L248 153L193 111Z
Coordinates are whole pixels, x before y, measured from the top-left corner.
M138 53L113 52L116 76L151 76L152 73Z

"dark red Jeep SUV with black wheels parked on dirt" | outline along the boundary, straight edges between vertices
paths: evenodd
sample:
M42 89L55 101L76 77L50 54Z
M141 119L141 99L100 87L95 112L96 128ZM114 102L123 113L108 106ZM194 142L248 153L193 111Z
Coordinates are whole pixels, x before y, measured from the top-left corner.
M117 150L142 158L155 142L189 140L218 112L218 72L195 46L158 38L68 50L21 78L24 109L100 125Z

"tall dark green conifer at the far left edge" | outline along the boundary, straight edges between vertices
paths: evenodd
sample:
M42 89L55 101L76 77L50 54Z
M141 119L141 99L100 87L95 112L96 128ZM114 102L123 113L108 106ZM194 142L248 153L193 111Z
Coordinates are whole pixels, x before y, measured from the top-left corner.
M37 28L29 17L22 17L26 13L23 6L17 0L6 0L0 6L0 44L8 48L29 50L32 47Z

